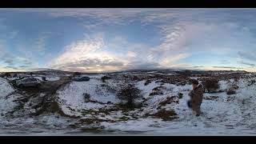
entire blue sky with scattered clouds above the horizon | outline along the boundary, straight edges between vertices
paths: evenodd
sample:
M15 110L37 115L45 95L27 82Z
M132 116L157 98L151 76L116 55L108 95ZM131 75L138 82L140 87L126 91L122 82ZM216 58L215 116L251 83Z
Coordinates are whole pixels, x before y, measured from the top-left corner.
M0 9L0 72L256 71L256 9Z

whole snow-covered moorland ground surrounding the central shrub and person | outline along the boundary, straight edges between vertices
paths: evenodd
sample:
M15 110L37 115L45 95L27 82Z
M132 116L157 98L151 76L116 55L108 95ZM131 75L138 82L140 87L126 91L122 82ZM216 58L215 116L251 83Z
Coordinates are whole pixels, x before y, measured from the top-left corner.
M43 114L26 118L26 121L15 118L2 121L0 125L13 124L13 129L19 127L22 131L25 130L20 127L23 124L33 130L34 125L40 124L38 131L41 133L38 134L90 134L99 130L98 134L256 135L256 83L251 84L256 77L245 75L249 78L219 81L218 93L205 93L200 117L186 106L191 89L189 83L177 86L153 79L145 85L146 79L134 81L134 85L142 90L142 98L135 102L142 106L126 110L118 107L121 101L116 97L122 81L110 78L102 82L104 74L84 75L89 76L90 81L70 82L57 90L56 102L64 115ZM54 76L51 80L58 81L59 77ZM226 94L226 90L234 85L238 86L236 94ZM182 97L178 97L179 93ZM1 119L6 119L6 112L14 109L17 105L14 101L19 97L21 95L15 93L14 87L0 78ZM17 127L17 124L20 125Z

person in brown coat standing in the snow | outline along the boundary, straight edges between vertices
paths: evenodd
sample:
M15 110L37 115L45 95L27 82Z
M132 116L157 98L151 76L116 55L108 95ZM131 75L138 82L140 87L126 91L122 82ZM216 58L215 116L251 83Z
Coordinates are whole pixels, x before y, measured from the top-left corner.
M200 106L203 97L202 84L199 84L197 80L193 80L192 87L193 90L190 90L189 93L190 101L188 102L188 106L196 112L196 116L198 117L201 114Z

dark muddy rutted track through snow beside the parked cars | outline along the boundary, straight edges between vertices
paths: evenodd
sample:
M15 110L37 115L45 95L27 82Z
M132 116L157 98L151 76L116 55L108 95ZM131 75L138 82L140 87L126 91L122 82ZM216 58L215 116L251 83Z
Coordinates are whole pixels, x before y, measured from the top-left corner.
M42 82L42 86L39 88L36 87L27 87L27 88L18 88L13 85L16 89L14 93L21 94L22 97L18 98L17 102L19 105L16 109L11 111L9 114L17 116L26 115L22 113L27 113L28 110L35 110L30 115L39 115L44 112L58 112L62 114L62 111L58 108L58 103L55 101L55 93L61 87L65 86L71 82L68 77L61 77L58 81L46 81ZM29 105L28 110L25 110L26 103L32 103Z

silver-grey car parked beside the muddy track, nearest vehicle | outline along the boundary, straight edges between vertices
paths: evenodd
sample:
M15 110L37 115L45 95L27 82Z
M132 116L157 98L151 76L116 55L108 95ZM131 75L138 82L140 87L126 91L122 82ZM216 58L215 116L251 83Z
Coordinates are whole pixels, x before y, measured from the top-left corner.
M18 80L16 82L18 87L27 87L27 86L34 86L34 87L40 87L41 82L38 78L25 78L22 80Z

